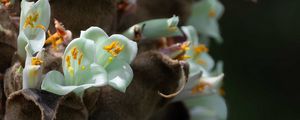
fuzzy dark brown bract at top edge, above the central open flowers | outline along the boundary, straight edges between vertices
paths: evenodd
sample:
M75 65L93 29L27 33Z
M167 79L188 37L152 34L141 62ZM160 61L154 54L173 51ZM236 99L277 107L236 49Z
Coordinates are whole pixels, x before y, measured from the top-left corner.
M50 5L51 18L61 21L74 37L90 26L101 27L107 33L115 31L116 0L50 0Z

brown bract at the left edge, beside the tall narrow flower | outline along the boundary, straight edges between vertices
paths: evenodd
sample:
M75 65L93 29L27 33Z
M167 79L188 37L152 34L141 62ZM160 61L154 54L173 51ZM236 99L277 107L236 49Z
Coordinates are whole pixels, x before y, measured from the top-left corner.
M0 9L0 72L11 65L11 59L16 51L17 46L17 28L9 17L9 12Z

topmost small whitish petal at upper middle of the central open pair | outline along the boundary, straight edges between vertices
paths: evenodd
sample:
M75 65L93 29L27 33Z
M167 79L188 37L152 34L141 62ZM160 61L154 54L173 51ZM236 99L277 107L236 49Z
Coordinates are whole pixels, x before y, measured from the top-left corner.
M81 31L80 37L93 40L97 45L102 44L108 38L104 30L99 27L90 27L86 31Z

